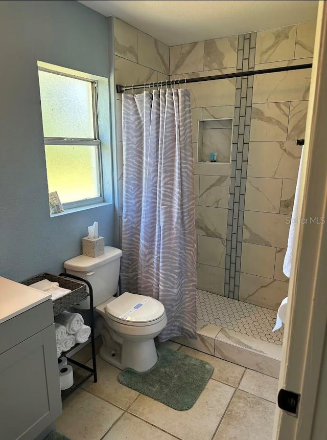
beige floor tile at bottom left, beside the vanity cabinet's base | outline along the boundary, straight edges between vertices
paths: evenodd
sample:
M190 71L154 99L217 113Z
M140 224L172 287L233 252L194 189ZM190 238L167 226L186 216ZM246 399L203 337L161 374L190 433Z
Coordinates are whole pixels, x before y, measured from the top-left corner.
M72 440L99 440L122 414L121 409L80 389L64 401L56 428Z

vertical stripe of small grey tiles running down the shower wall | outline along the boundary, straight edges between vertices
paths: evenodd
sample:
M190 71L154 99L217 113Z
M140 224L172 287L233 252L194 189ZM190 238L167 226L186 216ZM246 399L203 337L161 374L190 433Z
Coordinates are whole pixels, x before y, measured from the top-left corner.
M254 70L256 32L239 35L237 72ZM236 79L231 148L224 296L239 299L253 77Z

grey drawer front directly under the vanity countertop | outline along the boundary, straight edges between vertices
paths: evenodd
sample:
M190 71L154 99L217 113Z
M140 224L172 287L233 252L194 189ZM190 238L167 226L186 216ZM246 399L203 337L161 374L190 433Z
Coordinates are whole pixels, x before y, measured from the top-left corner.
M0 354L40 332L53 322L51 299L3 322L0 324Z

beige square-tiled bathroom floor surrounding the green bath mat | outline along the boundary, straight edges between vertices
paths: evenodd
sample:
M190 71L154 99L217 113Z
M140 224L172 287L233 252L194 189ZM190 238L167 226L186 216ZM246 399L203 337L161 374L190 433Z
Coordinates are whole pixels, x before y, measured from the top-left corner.
M168 341L214 367L193 408L176 411L121 385L120 370L98 357L99 380L63 403L57 429L72 440L269 440L277 379Z

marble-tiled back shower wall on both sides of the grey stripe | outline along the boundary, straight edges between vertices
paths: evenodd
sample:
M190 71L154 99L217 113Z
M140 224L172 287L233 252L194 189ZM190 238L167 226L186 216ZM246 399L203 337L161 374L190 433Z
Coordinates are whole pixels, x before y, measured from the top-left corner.
M259 70L312 62L314 35L315 23L257 32L255 55L252 51L247 60L238 52L238 36L174 46L170 48L170 78L235 72L238 55L242 56L243 70L251 63ZM310 77L310 70L279 72L255 76L245 85L251 89L246 103L249 111L244 115L245 125L250 127L249 139L245 142L244 135L240 138L238 133L234 142L239 149L233 148L236 153L241 148L243 159L239 188L245 198L244 206L238 206L238 223L228 221L229 190L235 195L230 164L196 161L199 120L235 118L236 136L237 122L241 124L235 112L239 93L236 81L188 84L193 116L198 289L224 295L226 282L227 296L232 291L240 300L275 310L287 295L288 280L282 268L301 154L296 139L305 135ZM241 244L234 246L233 260L227 255L227 271L231 261L236 263L239 258L239 278L236 271L233 281L230 272L225 279L227 222L234 228L231 232L236 236L239 232Z

